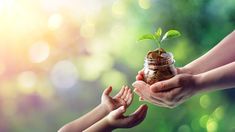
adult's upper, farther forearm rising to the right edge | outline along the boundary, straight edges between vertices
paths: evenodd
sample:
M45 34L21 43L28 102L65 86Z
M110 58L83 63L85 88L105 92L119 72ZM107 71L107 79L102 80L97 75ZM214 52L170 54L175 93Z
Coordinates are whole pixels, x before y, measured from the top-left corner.
M200 74L235 61L235 31L203 56L189 63L184 68L192 74Z

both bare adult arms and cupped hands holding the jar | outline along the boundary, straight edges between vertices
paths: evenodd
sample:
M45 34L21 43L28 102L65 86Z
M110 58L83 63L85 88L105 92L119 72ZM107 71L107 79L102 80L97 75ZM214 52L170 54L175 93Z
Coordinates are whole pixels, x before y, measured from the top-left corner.
M158 106L173 108L202 91L235 87L235 32L225 37L202 57L178 68L178 75L148 85L143 82L143 70L133 83L135 92Z

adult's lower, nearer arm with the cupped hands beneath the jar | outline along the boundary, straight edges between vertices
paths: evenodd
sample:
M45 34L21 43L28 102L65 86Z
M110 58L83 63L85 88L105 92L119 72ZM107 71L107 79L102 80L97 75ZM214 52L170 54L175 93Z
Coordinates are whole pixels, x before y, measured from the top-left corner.
M151 86L143 81L136 81L133 86L144 100L173 108L199 92L235 87L235 62L197 75L178 74Z

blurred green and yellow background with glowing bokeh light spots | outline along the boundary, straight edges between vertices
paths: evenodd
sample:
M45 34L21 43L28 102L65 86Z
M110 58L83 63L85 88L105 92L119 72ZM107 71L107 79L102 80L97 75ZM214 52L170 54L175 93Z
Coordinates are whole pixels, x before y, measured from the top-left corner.
M136 43L157 27L182 36L163 45L181 67L235 28L234 0L0 0L0 132L53 132L131 86L156 48ZM216 59L216 58L215 58ZM235 131L234 90L194 96L117 132ZM143 102L137 95L127 113Z

